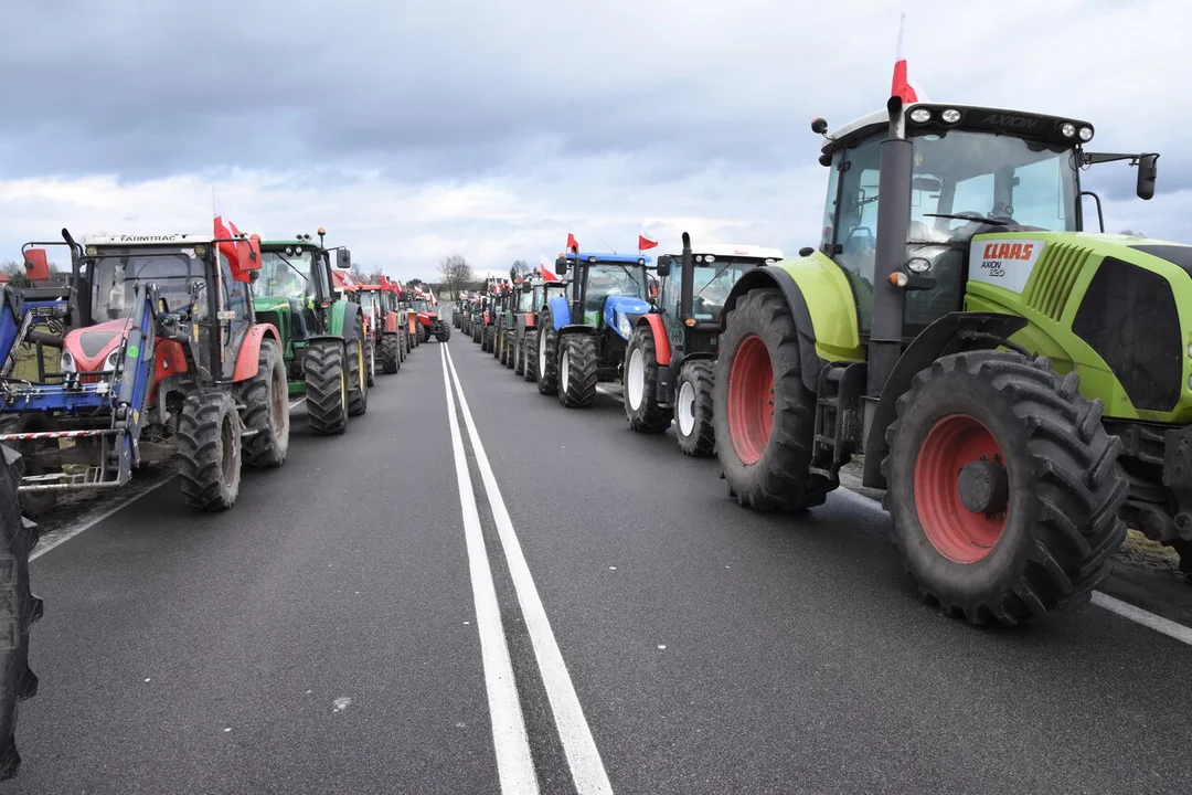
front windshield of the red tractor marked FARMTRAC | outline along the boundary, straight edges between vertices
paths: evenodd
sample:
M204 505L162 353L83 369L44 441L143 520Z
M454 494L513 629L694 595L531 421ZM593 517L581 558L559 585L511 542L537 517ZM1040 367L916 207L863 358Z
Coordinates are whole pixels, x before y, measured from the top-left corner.
M192 281L205 282L203 260L193 251L154 253L124 249L95 259L91 267L92 321L116 321L132 313L132 298L138 284L157 285L170 309L185 306L190 300ZM199 311L207 302L199 300Z

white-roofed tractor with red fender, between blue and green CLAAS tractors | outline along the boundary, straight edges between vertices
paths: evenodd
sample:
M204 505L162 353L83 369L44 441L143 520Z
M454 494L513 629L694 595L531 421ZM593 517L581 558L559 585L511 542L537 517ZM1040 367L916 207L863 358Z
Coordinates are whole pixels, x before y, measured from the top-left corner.
M631 428L660 434L673 417L681 451L697 458L713 454L712 383L725 298L741 275L781 259L778 249L758 246L713 244L693 251L687 232L678 257L658 257L658 298L638 318L625 354L622 400Z

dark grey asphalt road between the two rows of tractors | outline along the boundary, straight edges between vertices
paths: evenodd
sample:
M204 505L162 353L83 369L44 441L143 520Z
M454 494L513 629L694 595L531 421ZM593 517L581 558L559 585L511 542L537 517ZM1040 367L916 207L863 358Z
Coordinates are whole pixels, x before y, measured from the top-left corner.
M231 511L169 483L38 558L0 790L534 791L527 763L542 793L1192 790L1192 647L1098 607L945 619L873 503L745 511L611 398L446 347L344 436L296 409Z

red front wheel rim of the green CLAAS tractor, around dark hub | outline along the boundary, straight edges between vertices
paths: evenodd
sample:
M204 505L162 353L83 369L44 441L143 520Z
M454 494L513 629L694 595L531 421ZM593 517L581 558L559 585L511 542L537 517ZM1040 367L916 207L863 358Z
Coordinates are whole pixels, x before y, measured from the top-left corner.
M960 472L974 461L1002 460L985 423L963 414L939 420L927 433L914 465L914 502L923 532L939 554L976 563L993 549L1006 527L1008 507L975 513L961 501Z

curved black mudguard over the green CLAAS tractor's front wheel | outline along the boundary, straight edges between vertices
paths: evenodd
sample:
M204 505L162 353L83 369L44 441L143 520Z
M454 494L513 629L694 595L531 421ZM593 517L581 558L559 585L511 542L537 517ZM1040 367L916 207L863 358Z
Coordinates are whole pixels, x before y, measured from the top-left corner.
M1026 318L998 312L949 312L935 321L902 352L882 389L874 418L865 431L862 483L884 489L881 466L886 458L886 429L898 417L898 399L911 389L914 374L940 356L963 350L992 350L1026 327ZM819 374L819 371L815 373Z

